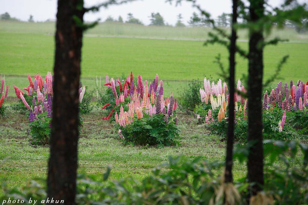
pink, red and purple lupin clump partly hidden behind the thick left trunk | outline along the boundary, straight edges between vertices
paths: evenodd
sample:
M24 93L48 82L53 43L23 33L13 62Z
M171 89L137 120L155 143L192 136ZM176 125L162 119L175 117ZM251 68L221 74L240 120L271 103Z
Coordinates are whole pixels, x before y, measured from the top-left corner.
M24 88L27 93L23 93L14 85L15 94L22 101L24 107L26 107L26 113L29 115L30 134L32 136L31 144L48 145L51 133L54 75L48 72L43 81L42 76L37 73L34 75L33 82L29 74L28 79L30 85ZM79 102L82 102L85 89L85 86L82 87L80 83ZM79 120L81 126L81 117L79 117Z

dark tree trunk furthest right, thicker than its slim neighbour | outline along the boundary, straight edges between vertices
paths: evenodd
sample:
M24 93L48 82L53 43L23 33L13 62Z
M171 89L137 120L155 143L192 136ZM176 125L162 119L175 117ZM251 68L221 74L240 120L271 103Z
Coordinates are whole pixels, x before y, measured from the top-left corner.
M256 23L264 16L264 0L250 0L250 21ZM260 23L259 23L260 24ZM249 31L248 54L248 181L254 183L250 194L262 190L263 145L262 145L262 77L263 77L263 33L260 29Z

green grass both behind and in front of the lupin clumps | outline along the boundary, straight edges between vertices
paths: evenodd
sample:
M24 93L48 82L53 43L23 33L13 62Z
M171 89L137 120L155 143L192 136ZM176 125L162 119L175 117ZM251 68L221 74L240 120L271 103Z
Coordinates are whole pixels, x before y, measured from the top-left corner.
M103 84L106 74L116 77L122 73L128 75L132 71L135 75L141 74L144 80L152 80L157 73L164 80L165 95L173 90L174 96L178 97L180 88L185 87L189 80L202 80L204 76L218 77L220 70L213 63L217 54L221 54L227 68L228 54L225 48L218 45L203 46L201 40L192 40L205 39L208 31L204 28L100 24L83 38L81 80L93 89L96 76L102 77ZM39 72L45 76L47 71L52 71L53 34L52 22L0 21L0 74L5 75L6 84L10 86L9 96L15 96L13 84L21 89L29 84L28 74L34 76ZM282 56L289 54L290 58L278 80L307 80L307 34L274 30L275 34L282 38L290 37L292 42L265 49L264 78L274 74ZM240 33L241 42L238 45L247 50L245 35L245 32ZM245 59L237 56L238 78L247 73L247 64ZM0 181L7 181L8 187L13 187L25 185L36 177L46 178L49 148L29 146L26 116L12 110L8 102L4 105L8 110L7 117L0 118ZM107 114L97 110L83 115L85 126L79 139L78 172L101 177L107 164L111 164L111 179L133 176L140 181L152 168L166 162L168 155L184 154L190 158L202 155L209 161L225 159L225 142L210 135L204 126L197 126L197 121L189 115L180 113L181 147L163 149L123 146L112 125L101 120L103 115ZM301 158L299 155L297 161ZM245 163L236 161L234 178L241 178L245 174ZM0 195L2 193L0 190Z

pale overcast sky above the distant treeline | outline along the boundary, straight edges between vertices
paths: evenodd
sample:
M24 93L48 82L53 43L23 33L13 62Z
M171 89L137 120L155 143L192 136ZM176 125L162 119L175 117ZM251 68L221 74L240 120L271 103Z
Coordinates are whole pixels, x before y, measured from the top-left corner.
M86 6L96 5L104 1L106 0L84 0ZM231 0L198 0L198 2L213 17L217 17L223 12L231 13ZM282 0L269 1L272 6L277 6L281 2ZM111 6L107 9L102 8L99 12L86 14L84 19L94 21L100 18L103 21L109 15L114 18L121 15L125 21L127 14L131 12L135 18L139 18L144 24L148 25L150 14L159 12L164 17L165 22L174 25L178 14L182 14L183 22L187 24L194 11L196 10L192 8L189 2L183 2L182 5L175 6L174 3L170 5L165 0L143 0L120 6ZM0 0L0 14L5 12L23 21L27 21L30 14L34 16L34 21L55 19L57 0Z

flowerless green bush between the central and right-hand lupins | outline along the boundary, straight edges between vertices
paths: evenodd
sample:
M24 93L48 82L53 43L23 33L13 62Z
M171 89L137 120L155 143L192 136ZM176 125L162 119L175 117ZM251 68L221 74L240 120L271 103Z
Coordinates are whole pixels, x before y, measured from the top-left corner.
M196 105L201 103L200 99L200 87L202 82L197 80L192 80L188 82L188 86L180 90L180 104L184 109L193 111Z

